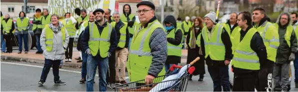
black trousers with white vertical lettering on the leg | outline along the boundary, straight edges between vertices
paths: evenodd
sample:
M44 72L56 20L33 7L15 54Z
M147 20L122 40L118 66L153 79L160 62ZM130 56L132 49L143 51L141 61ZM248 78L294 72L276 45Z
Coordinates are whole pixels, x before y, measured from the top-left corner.
M271 67L260 68L258 77L255 83L257 92L271 92L272 90L272 73L273 65Z

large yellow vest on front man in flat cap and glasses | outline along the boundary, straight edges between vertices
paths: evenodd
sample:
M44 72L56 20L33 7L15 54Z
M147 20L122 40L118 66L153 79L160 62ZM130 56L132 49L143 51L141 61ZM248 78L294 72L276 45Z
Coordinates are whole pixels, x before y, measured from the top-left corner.
M146 28L142 28L141 24L138 24L136 28L137 31L132 37L127 61L127 71L130 82L144 80L148 75L147 73L152 63L149 39L156 28L163 28L163 26L157 20L154 20L148 23ZM164 75L164 68L158 74L158 76L161 75ZM155 81L160 82L161 80L154 80L154 82Z

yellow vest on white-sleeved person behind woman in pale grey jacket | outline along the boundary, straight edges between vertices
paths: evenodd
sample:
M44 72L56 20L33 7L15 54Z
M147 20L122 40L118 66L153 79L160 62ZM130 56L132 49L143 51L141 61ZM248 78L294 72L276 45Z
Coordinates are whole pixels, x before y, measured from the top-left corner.
M62 20L62 24L66 28L69 36L73 36L75 34L75 31L76 31L75 25L72 24L71 19L69 19L69 21L67 23L66 23L66 20Z

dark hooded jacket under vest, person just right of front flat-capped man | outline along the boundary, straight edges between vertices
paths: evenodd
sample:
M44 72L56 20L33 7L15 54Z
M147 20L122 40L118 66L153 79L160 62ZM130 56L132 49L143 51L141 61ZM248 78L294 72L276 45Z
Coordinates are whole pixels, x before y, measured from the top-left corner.
M174 28L172 28L168 31L166 30L167 34L171 31L176 30L177 24L176 24L174 16L168 15L164 18L163 21L164 22L169 22L171 25L174 26ZM163 24L164 24L164 22L163 22ZM167 38L167 42L170 43L170 44L173 44L173 45L179 45L179 44L181 44L182 37L183 37L182 30L178 29L175 33L175 38ZM177 64L177 63L180 63L180 62L181 62L181 57L179 57L179 56L167 56L165 64Z

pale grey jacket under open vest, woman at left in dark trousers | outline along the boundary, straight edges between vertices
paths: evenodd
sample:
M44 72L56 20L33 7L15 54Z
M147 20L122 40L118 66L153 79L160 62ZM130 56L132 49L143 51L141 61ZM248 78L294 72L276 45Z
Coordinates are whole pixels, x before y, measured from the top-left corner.
M62 22L58 22L58 31L54 32L54 30L52 28L54 28L54 26L49 23L48 26L49 28L51 28L53 30L53 47L52 50L50 52L46 51L46 45L45 45L45 28L43 28L42 33L40 35L40 45L41 45L41 49L43 50L43 56L45 59L49 59L49 60L63 60L65 58L65 51L64 48L67 48L68 45L68 41L69 41L69 35L67 33L67 30L65 28L65 42L64 45L62 44L62 32L61 32L61 28L63 27Z

